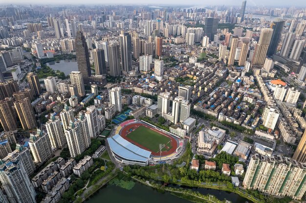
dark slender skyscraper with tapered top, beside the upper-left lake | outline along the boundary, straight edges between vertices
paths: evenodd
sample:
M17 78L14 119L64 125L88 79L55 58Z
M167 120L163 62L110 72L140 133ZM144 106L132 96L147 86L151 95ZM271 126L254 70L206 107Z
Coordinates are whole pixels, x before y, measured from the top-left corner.
M83 36L83 33L77 32L75 38L75 49L78 62L78 69L83 75L84 84L88 83L88 77L91 76L89 54L86 39ZM80 92L79 92L80 93Z

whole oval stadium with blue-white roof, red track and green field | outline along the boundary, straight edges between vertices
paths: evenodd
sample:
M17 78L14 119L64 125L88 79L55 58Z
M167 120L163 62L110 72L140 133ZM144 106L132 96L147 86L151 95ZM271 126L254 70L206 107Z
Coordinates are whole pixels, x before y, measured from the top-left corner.
M184 141L145 121L132 119L118 125L108 143L112 156L118 162L147 166L175 159Z

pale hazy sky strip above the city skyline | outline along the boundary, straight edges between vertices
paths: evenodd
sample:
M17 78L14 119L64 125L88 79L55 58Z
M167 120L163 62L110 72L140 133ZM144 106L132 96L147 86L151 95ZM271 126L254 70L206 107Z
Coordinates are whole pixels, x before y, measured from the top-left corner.
M1 0L0 0L1 2ZM204 5L240 5L242 0L8 0L6 3L37 4L188 4L197 7ZM2 1L4 3L4 0ZM249 6L296 6L306 7L306 0L247 0Z

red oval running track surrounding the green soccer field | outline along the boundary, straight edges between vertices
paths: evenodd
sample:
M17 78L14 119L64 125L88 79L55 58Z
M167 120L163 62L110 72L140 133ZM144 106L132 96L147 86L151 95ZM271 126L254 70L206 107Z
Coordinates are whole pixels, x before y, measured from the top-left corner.
M138 128L139 126L144 126L144 127L146 127L146 128L152 129L152 130L154 130L154 131L156 131L156 132L158 132L158 133L160 133L160 134L162 134L162 135L164 135L164 136L166 136L166 137L169 137L169 138L171 139L171 146L172 146L172 148L169 149L169 151L162 151L162 152L161 152L161 156L167 156L167 155L170 155L170 154L172 154L172 153L175 152L175 150L176 150L176 148L177 148L177 142L176 142L175 138L172 137L172 136L170 136L170 135L167 135L166 133L164 133L164 132L162 132L162 131L160 131L160 130L154 129L154 128L152 128L151 126L149 126L149 125L147 125L147 124L143 124L143 123L132 123L132 124L128 124L127 126L123 127L123 128L120 130L119 134L120 134L120 136L123 137L125 140L127 140L127 141L129 141L130 143L136 145L137 147L146 149L146 150L148 150L148 151L151 151L151 154L152 154L153 156L160 156L160 153L159 153L159 152L152 151L152 150L150 150L150 149L148 149L148 148L145 148L144 146L140 145L139 143L137 143L137 142L131 140L129 137L127 137L127 135L129 134L128 132L129 132L129 130L130 130L131 128L136 129L136 127Z

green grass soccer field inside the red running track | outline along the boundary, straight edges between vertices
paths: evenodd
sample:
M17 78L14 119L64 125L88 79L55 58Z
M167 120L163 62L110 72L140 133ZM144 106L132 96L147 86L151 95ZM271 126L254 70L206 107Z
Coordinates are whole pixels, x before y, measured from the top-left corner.
M130 132L127 137L153 152L159 151L159 144L167 144L170 141L169 137L144 126L140 126L134 131ZM166 147L162 149L162 151L168 151L170 148L172 148L172 146L169 142Z

